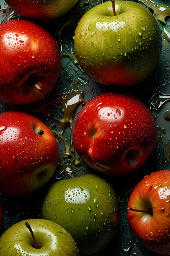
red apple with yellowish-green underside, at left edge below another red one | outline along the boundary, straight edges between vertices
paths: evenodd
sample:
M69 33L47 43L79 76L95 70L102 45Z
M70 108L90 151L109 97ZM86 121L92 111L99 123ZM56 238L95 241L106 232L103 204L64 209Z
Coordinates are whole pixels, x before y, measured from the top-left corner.
M57 162L58 143L42 121L23 112L0 115L0 192L33 193L51 178Z

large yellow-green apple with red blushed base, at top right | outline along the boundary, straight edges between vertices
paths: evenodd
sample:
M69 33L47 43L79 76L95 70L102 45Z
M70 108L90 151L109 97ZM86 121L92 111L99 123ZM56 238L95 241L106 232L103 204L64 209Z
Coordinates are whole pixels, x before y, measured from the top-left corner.
M136 85L159 61L161 31L152 13L141 4L116 1L98 4L85 13L74 36L78 63L103 85Z

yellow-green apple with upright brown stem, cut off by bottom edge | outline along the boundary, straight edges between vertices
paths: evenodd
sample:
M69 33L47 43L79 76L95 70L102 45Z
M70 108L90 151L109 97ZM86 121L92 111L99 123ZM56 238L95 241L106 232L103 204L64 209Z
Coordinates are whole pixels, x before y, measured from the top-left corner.
M22 220L0 238L3 256L78 256L72 236L63 227L42 219Z

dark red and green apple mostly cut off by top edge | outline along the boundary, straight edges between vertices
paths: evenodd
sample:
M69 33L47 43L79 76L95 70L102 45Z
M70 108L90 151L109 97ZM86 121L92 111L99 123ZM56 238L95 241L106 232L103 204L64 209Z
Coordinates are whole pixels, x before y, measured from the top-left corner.
M6 0L22 16L35 20L51 20L70 11L78 0Z

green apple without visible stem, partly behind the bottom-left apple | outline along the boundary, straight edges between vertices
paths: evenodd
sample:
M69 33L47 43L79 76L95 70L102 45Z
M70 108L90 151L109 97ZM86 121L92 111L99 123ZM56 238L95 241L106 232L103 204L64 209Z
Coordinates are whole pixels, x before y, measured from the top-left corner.
M54 183L42 205L42 218L64 227L81 255L96 254L119 227L119 202L108 182L93 174Z

